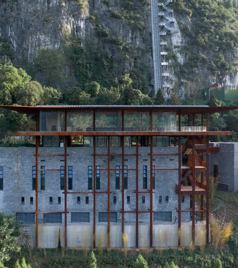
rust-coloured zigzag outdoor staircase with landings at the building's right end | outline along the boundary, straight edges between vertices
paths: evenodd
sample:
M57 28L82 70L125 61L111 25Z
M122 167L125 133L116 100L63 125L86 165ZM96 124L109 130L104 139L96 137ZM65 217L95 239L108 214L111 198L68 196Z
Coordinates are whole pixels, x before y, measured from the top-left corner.
M206 149L206 140L200 139L199 137L195 138L195 149L196 150L205 150ZM188 186L181 185L181 194L190 195L192 194L192 167L193 167L193 152L192 152L192 140L188 139L182 148L182 154L188 155L188 161L185 165L186 168L183 169L182 179L188 180ZM206 162L201 161L195 151L195 172L206 172ZM206 194L206 184L201 183L197 180L194 174L194 183L195 183L195 194ZM176 184L176 193L179 191L179 186Z

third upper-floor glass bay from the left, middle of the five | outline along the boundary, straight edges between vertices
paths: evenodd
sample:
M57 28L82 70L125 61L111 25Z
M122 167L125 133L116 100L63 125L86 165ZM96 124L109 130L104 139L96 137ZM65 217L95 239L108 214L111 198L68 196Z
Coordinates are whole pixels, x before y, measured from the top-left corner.
M122 131L121 112L95 112L95 131Z

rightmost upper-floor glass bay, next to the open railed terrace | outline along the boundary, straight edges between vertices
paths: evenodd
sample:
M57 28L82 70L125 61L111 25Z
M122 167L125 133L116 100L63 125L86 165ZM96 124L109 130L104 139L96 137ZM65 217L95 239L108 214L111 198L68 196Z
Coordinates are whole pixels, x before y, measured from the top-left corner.
M152 131L176 131L176 112L153 113Z

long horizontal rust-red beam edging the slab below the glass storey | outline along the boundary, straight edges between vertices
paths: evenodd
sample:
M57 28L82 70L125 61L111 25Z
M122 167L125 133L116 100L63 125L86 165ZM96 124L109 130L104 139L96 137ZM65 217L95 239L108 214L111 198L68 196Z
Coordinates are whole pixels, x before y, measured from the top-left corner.
M17 131L16 136L200 136L232 135L231 131Z

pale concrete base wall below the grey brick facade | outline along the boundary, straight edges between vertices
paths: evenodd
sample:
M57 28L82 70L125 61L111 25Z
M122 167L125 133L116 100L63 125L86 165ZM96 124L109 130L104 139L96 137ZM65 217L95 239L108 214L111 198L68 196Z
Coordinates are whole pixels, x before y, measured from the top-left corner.
M44 224L38 228L38 247L56 248L59 243L59 229L61 241L64 244L64 224ZM142 248L142 239L145 247L149 247L150 243L150 226L149 224L139 224L138 226L138 242ZM171 223L153 224L153 247L158 247L158 232L162 233L162 247L166 247L165 233L168 233L168 247L176 247L178 239L178 225ZM206 230L206 223L198 223L195 225L196 246L199 246L200 230ZM35 231L35 228L34 228ZM124 232L128 235L128 248L136 247L136 225L125 224ZM190 246L192 239L192 223L181 224L181 245ZM107 247L107 224L96 226L96 247L100 245L100 240L103 241L103 247ZM35 237L34 237L35 241ZM210 241L210 226L209 226L209 241ZM206 240L205 240L206 242ZM121 225L110 226L110 245L111 248L121 247ZM67 247L73 248L92 248L93 247L93 225L92 224L68 224L67 225Z

